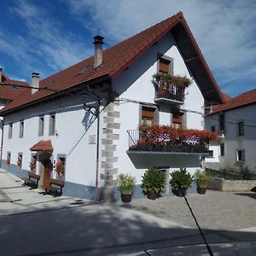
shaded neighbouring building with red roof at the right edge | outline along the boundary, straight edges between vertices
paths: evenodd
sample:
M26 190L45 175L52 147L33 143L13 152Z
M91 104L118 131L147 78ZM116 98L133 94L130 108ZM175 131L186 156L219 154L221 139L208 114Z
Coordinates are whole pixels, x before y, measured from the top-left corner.
M246 168L256 174L256 90L242 93L213 107L206 128L218 132L218 142L210 147L206 166L232 172Z

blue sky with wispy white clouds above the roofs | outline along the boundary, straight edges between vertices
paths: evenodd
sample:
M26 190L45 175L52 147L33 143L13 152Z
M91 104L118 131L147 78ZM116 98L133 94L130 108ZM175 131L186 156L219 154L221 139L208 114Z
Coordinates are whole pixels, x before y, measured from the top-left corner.
M256 0L0 0L0 66L31 82L106 49L182 11L218 86L237 96L256 88Z

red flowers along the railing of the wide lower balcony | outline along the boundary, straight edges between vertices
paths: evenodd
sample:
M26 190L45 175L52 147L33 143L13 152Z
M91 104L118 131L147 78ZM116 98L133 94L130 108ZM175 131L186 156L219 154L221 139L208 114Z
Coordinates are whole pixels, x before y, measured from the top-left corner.
M135 134L130 138L129 150L205 153L209 141L218 137L212 131L176 129L171 125L140 125Z

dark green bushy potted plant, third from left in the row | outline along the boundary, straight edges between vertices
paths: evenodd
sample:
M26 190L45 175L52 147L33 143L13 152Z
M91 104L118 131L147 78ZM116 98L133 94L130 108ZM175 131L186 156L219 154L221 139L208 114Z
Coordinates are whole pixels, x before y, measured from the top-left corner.
M186 191L193 181L193 176L187 172L186 168L179 168L178 171L174 171L170 175L172 177L170 181L172 192L180 197L186 195Z

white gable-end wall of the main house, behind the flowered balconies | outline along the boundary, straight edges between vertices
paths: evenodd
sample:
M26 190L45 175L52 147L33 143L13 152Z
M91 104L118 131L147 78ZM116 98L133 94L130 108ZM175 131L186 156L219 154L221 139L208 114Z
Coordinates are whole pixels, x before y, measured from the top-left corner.
M157 72L157 54L172 57L174 60L174 74L186 75L191 78L189 71L184 64L182 56L171 34L167 34L157 44L148 49L131 67L126 69L117 79L113 80L113 89L119 92L119 98L131 99L137 102L154 103L154 85L151 83L152 76ZM187 95L181 110L185 110L186 125L191 129L203 129L203 106L204 99L198 86L193 84L186 90ZM140 112L139 103L128 102L119 105L120 118L120 139L117 142L117 152L115 156L119 158L116 167L119 173L131 173L137 177L138 183L141 181L144 169L136 169L130 158L125 153L128 149L128 134L127 130L136 130L139 125ZM199 113L190 113L195 111ZM160 106L159 122L160 125L171 125L172 114L171 106ZM182 159L181 159L182 160ZM189 172L194 173L195 168L189 168Z

